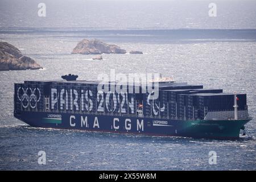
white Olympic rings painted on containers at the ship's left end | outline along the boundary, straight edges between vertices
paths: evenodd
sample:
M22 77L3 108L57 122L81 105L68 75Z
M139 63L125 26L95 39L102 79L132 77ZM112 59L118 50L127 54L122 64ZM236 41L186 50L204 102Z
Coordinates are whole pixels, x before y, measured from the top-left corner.
M21 95L19 95L20 89L22 89L23 91L23 94ZM35 94L36 90L38 90L38 93L39 93L38 98L36 97L36 94ZM31 93L30 95L28 94L28 91L30 91ZM18 100L22 102L22 106L24 108L27 108L28 105L30 105L32 109L35 109L36 103L40 101L41 93L39 88L35 88L34 90L32 90L31 88L27 88L26 90L24 90L23 88L19 87L17 90L17 96L18 96ZM27 104L24 104L23 101L27 101Z

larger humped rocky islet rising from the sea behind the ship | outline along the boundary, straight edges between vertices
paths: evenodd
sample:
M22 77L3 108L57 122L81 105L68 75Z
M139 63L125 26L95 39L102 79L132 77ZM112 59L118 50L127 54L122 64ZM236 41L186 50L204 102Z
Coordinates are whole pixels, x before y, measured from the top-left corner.
M98 55L102 53L126 53L125 49L121 49L114 44L106 44L100 40L83 39L73 49L72 53L82 53L85 55Z

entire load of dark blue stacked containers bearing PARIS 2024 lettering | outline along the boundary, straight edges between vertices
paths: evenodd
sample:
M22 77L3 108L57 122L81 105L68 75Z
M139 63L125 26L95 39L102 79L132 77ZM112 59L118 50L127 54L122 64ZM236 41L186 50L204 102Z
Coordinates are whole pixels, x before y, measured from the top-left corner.
M109 86L115 83L110 82ZM16 111L45 111L45 98L49 97L51 111L84 112L96 114L137 114L143 105L144 117L171 117L177 119L204 119L208 111L234 110L234 94L222 89L203 89L203 85L161 84L159 97L150 93L135 93L127 86L126 93L97 92L93 81L24 81L15 84L14 107ZM114 85L115 86L115 85ZM53 92L51 92L51 90ZM113 90L112 90L113 91ZM238 110L245 110L246 94L237 94ZM88 110L89 109L89 110Z

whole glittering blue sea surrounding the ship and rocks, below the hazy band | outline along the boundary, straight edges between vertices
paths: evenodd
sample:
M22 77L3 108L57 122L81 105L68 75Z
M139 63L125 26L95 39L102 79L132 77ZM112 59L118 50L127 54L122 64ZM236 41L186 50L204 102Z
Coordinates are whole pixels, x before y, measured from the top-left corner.
M255 30L92 30L2 28L0 40L18 47L44 69L0 72L0 169L255 170ZM73 55L82 38L98 38L143 55ZM73 73L94 80L100 73L163 73L177 81L224 92L247 93L253 120L237 140L148 137L29 127L13 117L14 83L60 80ZM46 165L38 152L46 152ZM209 151L217 153L210 165Z

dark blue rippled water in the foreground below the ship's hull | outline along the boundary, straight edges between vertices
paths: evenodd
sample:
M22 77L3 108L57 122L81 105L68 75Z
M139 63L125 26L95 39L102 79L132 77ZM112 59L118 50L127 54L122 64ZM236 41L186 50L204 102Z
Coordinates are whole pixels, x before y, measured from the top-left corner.
M1 169L255 169L254 139L207 140L73 130L1 127ZM39 165L39 151L46 164ZM217 152L210 165L209 151Z

